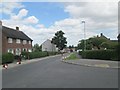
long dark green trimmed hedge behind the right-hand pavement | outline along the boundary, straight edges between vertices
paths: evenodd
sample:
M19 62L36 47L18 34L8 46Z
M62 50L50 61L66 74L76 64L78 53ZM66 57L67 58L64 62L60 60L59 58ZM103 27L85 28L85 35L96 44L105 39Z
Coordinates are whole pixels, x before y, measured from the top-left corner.
M89 50L81 53L82 58L115 60L118 61L118 53L115 50Z

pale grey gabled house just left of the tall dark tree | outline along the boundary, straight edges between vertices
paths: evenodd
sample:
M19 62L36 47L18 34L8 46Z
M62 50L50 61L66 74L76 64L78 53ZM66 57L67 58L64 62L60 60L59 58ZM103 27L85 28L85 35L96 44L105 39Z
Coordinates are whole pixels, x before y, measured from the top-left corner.
M42 51L56 52L58 49L56 48L55 44L51 43L51 40L47 39L42 43Z

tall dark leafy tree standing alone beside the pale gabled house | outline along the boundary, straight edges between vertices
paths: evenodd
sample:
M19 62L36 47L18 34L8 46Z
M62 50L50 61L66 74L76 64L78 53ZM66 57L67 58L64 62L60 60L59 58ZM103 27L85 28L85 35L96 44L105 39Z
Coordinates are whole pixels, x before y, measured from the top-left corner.
M60 31L57 31L55 33L55 36L52 38L52 43L54 43L56 45L56 47L58 47L58 50L63 50L66 47L67 41L66 41L66 37L64 37L65 33Z

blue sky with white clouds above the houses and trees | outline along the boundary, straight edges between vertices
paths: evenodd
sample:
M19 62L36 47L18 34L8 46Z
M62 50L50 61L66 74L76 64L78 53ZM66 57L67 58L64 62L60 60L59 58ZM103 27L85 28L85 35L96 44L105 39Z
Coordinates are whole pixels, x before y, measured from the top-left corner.
M62 30L68 45L103 33L110 39L118 35L117 2L5 2L0 7L3 25L20 30L41 44Z

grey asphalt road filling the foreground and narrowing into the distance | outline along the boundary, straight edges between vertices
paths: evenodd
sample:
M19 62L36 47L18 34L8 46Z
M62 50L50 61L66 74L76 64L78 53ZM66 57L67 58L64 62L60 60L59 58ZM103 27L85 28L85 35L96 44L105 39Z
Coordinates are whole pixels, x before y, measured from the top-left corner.
M61 62L61 56L2 71L3 88L118 88L118 70Z

